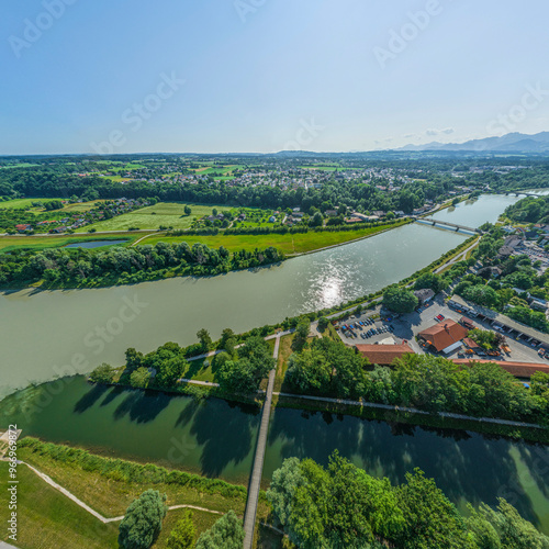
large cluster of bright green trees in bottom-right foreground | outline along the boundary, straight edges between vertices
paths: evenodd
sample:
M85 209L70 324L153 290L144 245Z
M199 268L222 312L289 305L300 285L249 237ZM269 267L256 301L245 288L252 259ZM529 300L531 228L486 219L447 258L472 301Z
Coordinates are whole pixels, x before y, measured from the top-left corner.
M549 549L549 538L503 498L495 509L469 505L463 516L418 469L392 485L337 451L327 468L284 460L267 497L302 549Z

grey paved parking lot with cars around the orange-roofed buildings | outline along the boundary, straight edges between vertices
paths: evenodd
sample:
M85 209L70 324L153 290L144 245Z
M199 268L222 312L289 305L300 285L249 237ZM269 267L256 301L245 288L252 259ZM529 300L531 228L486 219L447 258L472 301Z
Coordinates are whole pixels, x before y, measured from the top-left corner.
M339 337L346 345L359 345L359 344L376 344L380 343L383 339L386 339L388 337L393 337L395 344L400 344L403 340L407 341L408 345L412 347L414 352L418 354L424 354L425 349L416 341L415 336L419 333L423 332L424 329L433 326L434 324L437 324L437 321L435 317L437 315L444 315L445 318L450 318L452 321L459 322L459 320L463 315L462 313L459 313L458 311L453 311L449 306L447 306L444 302L444 296L441 294L438 294L435 300L433 300L428 306L422 307L419 312L413 312L410 314L404 314L400 315L397 317L392 316L391 321L382 321L379 315L380 315L380 310L381 307L378 306L374 311L368 311L365 312L361 315L355 315L354 317L350 317L348 321L345 322L339 322L338 325L350 325L354 324L356 325L357 321L365 322L366 320L371 320L372 316L377 316L374 324L363 326L362 329L354 329L350 330L345 330L341 332L341 329L338 330ZM469 317L475 327L482 328L482 329L490 329L494 330L493 326L491 326L488 322L482 322L478 318L474 317ZM362 338L360 334L368 332L370 328L380 328L382 326L391 326L393 332L385 332L382 334L374 335L369 338ZM356 337L352 337L352 334ZM537 348L533 348L528 343L524 340L516 340L513 337L511 337L508 334L503 333L506 337L506 345L511 348L511 354L509 355L503 355L501 357L488 357L488 356L477 356L477 355L466 355L468 358L477 358L477 359L490 359L490 360L513 360L516 362L547 362L546 359L541 358L538 352ZM449 355L441 355L440 356L447 357L447 358L459 358L458 354L461 355L464 351L466 347L462 346L460 349L456 349L453 352L450 352ZM435 354L437 355L437 354Z

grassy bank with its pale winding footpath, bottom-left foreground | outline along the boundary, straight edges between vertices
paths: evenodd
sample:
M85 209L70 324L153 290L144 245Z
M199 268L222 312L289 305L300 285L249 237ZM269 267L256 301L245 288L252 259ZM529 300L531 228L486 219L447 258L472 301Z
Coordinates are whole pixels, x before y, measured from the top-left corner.
M111 547L111 542L116 547L120 519L130 503L148 489L168 496L169 511L157 548L166 547L183 508L191 509L198 534L229 509L244 515L246 489L217 479L96 456L31 437L20 440L18 457L29 464L20 463L18 468L25 486L18 502L18 541L24 547L99 549ZM8 463L0 463L0 474L7 480ZM259 522L267 523L269 514L270 505L261 493Z

